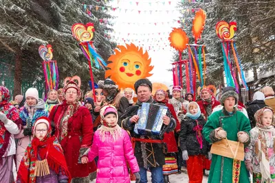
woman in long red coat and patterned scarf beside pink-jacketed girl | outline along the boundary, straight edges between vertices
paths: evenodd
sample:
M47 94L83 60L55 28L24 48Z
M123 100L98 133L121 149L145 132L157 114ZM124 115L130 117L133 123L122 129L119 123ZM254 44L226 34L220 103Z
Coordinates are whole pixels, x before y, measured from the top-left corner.
M69 82L63 92L65 100L54 106L49 119L54 121L55 136L61 143L72 182L87 182L96 178L96 163L82 164L80 157L91 147L93 123L91 114L81 106L80 88L75 82Z

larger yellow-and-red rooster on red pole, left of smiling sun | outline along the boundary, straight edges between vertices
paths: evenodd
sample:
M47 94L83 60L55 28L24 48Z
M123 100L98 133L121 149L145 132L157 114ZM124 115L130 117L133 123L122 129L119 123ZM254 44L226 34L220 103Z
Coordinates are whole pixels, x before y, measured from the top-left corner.
M91 77L91 86L93 90L94 101L96 101L95 87L94 87L94 75L93 75L93 63L97 69L104 69L107 66L106 62L96 53L96 48L93 45L92 39L94 38L94 23L75 23L72 26L72 35L79 41L80 49L83 51L89 64L89 73Z

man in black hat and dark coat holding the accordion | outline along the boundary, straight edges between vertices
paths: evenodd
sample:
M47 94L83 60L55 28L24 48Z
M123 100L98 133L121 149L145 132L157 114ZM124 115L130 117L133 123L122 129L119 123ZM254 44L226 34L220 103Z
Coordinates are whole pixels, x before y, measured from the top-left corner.
M164 151L166 148L165 144L162 142L162 138L165 132L170 132L175 129L175 119L173 119L172 115L167 110L166 115L159 119L159 121L163 122L159 134L138 134L135 128L141 116L139 116L138 113L142 108L142 103L161 104L153 100L152 83L149 80L137 80L137 82L135 82L135 92L137 93L137 103L127 108L126 112L120 117L120 125L131 133L135 157L140 167L140 183L147 182L147 169L152 173L152 182L164 182L162 166L165 164ZM151 114L149 111L148 115L153 117L156 114ZM157 119L157 117L155 117L155 119ZM148 132L151 130L146 131Z

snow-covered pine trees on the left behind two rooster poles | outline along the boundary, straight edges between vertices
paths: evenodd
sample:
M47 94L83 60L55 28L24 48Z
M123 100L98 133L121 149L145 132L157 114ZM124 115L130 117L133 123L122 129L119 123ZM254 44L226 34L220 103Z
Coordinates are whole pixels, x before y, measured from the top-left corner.
M92 5L107 6L108 1L92 1ZM85 2L84 2L85 3ZM111 30L100 19L111 19L107 8L94 11L89 16L83 10L83 1L78 0L3 0L0 1L0 43L1 52L14 55L15 71L14 95L21 93L22 80L43 78L39 57L40 45L51 44L54 60L57 60L60 82L72 75L80 75L83 84L89 80L87 59L72 37L74 23L95 23L94 45L98 53L107 60L115 44L105 36L104 30ZM102 71L95 69L96 80ZM101 74L102 75L102 74ZM43 79L44 80L44 79ZM87 87L87 86L86 86Z

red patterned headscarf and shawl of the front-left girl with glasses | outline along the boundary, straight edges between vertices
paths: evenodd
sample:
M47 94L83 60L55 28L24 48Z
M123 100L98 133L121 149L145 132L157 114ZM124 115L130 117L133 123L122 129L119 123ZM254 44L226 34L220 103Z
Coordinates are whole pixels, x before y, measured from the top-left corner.
M34 127L36 127L37 122L43 123L40 119L50 121L47 117L40 117L34 123ZM35 129L33 128L33 132L34 131ZM49 125L47 135L42 140L39 140L39 138L36 138L36 136L34 136L34 138L32 139L32 143L30 143L30 145L27 147L25 155L22 158L19 171L17 173L17 180L20 180L22 183L36 182L34 168L37 160L37 155L39 154L41 158L47 158L47 163L50 169L55 171L56 174L58 174L61 169L63 174L67 175L68 182L71 181L71 175L69 174L69 170L67 168L67 163L65 160L65 156L63 154L63 149L61 148L61 145L58 143L56 137L50 135L51 131L52 129Z

